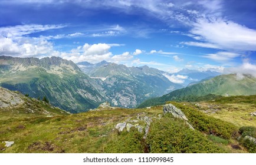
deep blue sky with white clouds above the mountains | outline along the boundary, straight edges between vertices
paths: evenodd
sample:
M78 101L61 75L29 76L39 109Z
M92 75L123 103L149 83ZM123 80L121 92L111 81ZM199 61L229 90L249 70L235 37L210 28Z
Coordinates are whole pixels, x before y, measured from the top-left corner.
M256 72L255 0L1 0L0 55Z

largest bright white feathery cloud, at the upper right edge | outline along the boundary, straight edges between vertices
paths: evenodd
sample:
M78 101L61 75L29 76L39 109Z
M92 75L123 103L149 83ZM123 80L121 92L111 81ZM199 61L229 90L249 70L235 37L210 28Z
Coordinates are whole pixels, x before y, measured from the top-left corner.
M225 21L221 18L211 21L198 19L198 22L193 24L191 33L202 37L206 43L191 42L186 43L187 45L256 51L256 30L232 21Z

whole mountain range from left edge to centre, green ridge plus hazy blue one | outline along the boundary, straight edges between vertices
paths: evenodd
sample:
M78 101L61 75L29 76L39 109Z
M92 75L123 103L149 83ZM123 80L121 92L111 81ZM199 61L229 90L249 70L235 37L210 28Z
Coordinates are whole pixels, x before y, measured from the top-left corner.
M52 105L71 113L88 111L104 101L136 107L147 98L182 88L170 82L163 71L147 66L126 67L106 61L78 66L60 57L1 56L0 85L30 97L47 97Z

